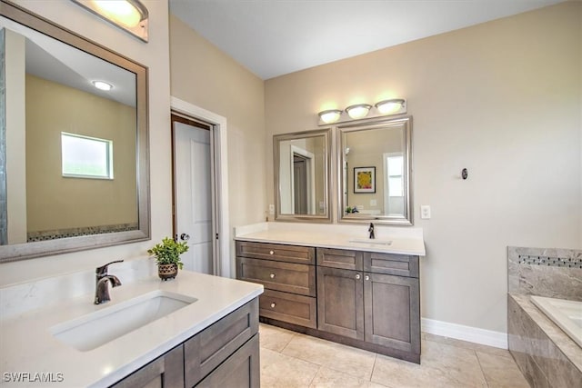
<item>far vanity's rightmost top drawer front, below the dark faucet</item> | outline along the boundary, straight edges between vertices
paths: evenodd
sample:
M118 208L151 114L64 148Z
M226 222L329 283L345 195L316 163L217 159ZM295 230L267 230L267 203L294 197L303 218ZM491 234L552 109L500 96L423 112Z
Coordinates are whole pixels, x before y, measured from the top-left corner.
M418 277L418 256L365 252L364 271L374 274Z

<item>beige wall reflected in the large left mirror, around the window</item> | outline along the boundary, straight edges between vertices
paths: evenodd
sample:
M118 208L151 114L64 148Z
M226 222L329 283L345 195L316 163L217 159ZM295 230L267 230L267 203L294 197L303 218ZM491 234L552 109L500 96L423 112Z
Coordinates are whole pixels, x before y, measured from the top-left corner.
M28 231L137 224L135 127L135 107L26 75ZM63 177L61 132L111 140L114 179Z

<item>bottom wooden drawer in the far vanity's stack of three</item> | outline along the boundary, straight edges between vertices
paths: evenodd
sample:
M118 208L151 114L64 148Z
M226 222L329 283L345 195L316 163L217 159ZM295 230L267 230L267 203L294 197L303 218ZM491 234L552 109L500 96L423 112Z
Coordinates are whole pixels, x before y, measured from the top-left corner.
M316 313L316 298L272 290L259 296L259 314L267 318L316 329Z

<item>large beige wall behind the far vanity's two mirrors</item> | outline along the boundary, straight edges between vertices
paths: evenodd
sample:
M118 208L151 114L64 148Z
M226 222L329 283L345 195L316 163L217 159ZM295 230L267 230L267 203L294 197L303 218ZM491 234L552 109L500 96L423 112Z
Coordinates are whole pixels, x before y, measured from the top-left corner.
M267 139L407 98L422 316L505 332L507 245L582 247L581 25L569 2L268 80Z

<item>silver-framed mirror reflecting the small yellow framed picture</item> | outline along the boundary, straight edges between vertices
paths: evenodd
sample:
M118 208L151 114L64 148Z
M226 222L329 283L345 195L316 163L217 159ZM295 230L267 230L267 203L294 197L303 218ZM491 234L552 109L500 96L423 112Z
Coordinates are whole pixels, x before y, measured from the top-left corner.
M338 220L412 225L412 118L337 131Z

